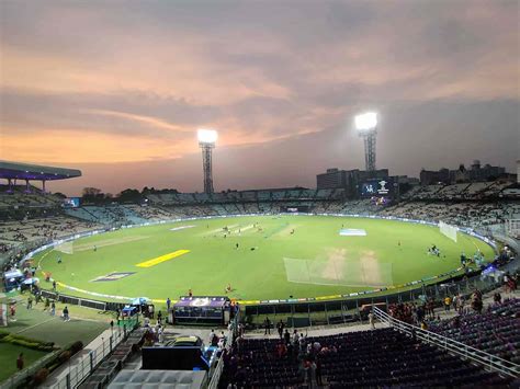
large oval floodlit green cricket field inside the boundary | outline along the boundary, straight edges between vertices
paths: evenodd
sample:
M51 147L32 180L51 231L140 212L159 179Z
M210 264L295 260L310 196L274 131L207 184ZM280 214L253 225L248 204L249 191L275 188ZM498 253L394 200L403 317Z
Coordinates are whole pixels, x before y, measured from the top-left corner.
M230 232L223 230L226 226ZM188 228L171 230L178 227ZM364 230L366 236L342 237L342 228ZM61 252L43 252L35 262L63 284L104 295L174 299L189 288L195 295L223 295L230 283L229 295L239 299L299 298L438 275L459 267L462 251L472 256L477 248L493 259L486 243L462 233L457 240L451 241L436 227L395 220L251 216L122 229L79 239ZM427 254L432 244L441 258ZM63 252L70 249L72 253ZM190 252L137 266L178 250ZM94 281L116 272L131 275Z

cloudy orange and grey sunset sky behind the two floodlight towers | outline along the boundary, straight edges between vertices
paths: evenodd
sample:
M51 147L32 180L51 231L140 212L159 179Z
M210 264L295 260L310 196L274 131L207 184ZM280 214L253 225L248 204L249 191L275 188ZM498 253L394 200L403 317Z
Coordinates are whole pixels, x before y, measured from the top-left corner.
M364 168L516 170L519 2L0 0L0 159L81 169L49 185L314 187Z

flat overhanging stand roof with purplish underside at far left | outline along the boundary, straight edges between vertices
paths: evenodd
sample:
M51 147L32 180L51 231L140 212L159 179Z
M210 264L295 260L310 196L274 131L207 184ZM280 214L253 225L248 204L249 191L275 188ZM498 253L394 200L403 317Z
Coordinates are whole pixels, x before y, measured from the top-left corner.
M0 179L50 181L74 179L76 176L81 176L81 171L77 169L0 161Z

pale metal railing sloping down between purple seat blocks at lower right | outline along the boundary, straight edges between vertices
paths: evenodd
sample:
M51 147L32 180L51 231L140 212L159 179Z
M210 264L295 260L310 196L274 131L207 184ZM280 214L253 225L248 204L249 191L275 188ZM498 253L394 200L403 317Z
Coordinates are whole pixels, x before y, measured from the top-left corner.
M463 357L464 359L470 359L474 363L484 366L485 368L488 368L489 370L497 371L515 378L517 378L520 374L520 365L517 365L512 362L486 353L482 350L472 347L453 339L405 323L400 320L391 317L388 313L384 312L377 307L374 307L373 311L375 317L380 321L387 323L389 327L398 330L399 332L403 332L410 336L415 335L420 341L433 344L442 350L456 354Z

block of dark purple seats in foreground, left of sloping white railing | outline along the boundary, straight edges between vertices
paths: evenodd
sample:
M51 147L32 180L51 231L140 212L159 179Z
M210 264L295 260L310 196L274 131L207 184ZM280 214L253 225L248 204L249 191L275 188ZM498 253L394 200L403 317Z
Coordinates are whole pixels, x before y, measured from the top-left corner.
M442 387L507 385L508 379L393 329L280 340L238 339L224 356L219 388ZM314 366L313 366L314 365Z

